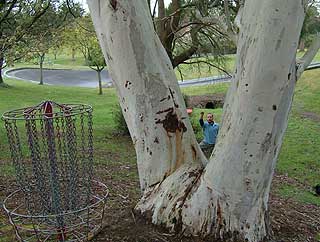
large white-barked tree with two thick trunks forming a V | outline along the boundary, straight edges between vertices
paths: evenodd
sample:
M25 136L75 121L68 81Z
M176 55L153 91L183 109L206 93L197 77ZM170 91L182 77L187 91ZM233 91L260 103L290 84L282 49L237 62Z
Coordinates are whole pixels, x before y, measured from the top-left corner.
M196 142L147 1L88 3L136 149L143 190L136 210L184 233L264 240L294 87L320 45L318 39L297 62L306 2L245 1L236 69L209 161Z

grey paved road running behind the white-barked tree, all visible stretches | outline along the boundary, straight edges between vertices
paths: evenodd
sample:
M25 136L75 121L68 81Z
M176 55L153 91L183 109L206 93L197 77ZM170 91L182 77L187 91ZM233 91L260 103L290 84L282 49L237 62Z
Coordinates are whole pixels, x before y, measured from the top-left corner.
M320 62L311 63L307 70L320 68ZM6 71L5 75L11 78L16 78L24 81L32 81L39 83L39 69L36 68L20 68ZM44 83L49 85L62 85L62 86L78 86L78 87L97 87L98 79L97 74L93 70L54 70L45 69ZM179 81L182 87L207 85L218 82L228 82L230 77L227 76L213 76L200 79ZM102 71L102 82L104 86L112 85L111 78L107 70Z

